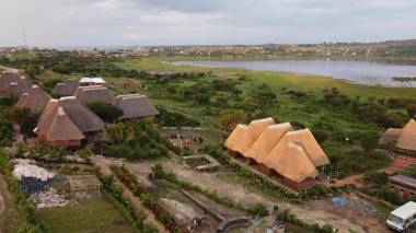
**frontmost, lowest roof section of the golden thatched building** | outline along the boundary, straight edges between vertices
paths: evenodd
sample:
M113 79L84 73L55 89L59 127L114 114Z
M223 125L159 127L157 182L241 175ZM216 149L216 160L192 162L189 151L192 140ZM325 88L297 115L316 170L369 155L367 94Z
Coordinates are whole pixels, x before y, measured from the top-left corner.
M297 142L278 143L264 163L281 176L293 182L303 182L317 176L316 167L307 150Z

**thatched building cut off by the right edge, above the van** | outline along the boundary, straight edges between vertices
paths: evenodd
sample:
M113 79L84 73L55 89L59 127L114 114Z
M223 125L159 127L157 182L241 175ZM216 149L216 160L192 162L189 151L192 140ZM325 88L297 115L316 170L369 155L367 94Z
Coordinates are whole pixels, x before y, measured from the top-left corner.
M394 147L397 151L416 154L416 121L411 119L403 129L389 128L379 139L381 148Z

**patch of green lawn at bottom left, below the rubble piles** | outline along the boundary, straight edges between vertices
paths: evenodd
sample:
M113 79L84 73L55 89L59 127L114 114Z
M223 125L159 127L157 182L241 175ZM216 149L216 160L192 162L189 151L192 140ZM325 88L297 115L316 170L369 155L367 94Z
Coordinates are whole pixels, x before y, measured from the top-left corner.
M132 232L123 214L104 199L37 212L53 232Z

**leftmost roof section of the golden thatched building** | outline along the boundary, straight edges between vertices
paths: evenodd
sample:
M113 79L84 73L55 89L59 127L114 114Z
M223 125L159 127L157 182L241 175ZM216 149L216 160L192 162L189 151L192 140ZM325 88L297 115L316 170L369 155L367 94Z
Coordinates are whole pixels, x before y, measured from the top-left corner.
M249 126L240 124L227 139L226 147L246 156L246 152L252 148L254 141L273 124L275 124L273 118L253 120Z

